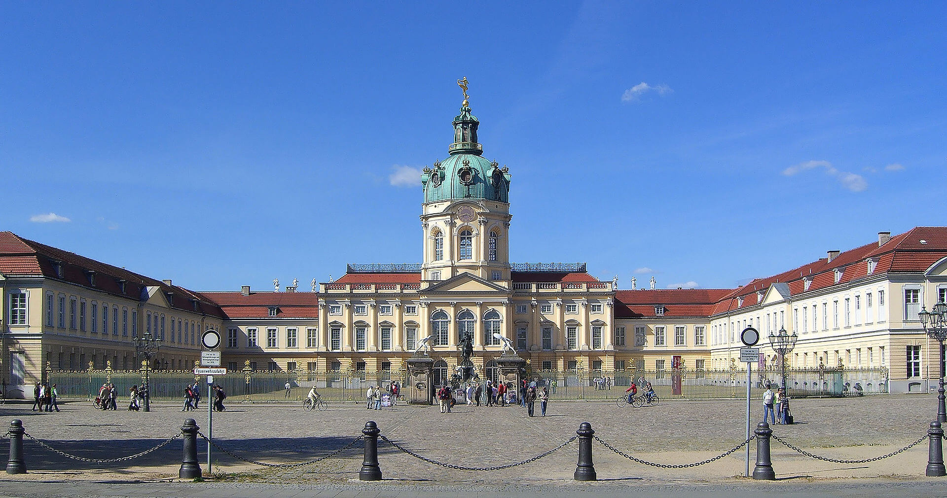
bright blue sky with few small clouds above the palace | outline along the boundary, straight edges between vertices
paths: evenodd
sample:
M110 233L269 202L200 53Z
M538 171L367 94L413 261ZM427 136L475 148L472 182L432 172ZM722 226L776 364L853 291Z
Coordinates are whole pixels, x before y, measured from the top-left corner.
M190 288L420 262L465 76L515 262L730 287L947 224L942 3L104 7L0 4L0 230Z

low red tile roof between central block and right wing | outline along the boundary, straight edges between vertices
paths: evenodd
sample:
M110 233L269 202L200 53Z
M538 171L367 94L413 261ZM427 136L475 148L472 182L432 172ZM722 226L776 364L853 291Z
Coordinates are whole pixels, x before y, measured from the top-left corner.
M733 289L648 289L615 292L615 318L656 317L654 306L664 306L663 317L709 317L714 303Z

